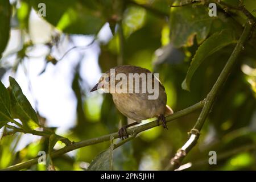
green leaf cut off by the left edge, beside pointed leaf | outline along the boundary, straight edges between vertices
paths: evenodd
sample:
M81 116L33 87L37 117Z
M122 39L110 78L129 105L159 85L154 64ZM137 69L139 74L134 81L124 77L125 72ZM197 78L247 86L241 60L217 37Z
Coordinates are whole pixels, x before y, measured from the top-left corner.
M5 88L5 85L0 81L0 129L7 122L11 121L11 104L10 96L8 90Z

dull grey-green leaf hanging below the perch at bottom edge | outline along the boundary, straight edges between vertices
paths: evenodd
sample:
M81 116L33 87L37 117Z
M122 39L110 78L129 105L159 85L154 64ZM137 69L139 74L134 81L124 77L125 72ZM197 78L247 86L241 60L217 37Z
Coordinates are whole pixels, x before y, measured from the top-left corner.
M113 140L113 137L112 139ZM108 150L102 151L96 156L88 167L89 171L110 171L113 170L113 149L114 145L111 142Z

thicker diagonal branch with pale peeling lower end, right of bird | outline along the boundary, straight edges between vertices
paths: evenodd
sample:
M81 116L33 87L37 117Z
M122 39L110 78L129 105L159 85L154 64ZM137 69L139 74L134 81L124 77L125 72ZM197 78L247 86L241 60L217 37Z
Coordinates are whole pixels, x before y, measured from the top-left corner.
M246 40L249 39L251 35L251 30L253 29L255 22L251 19L248 19L245 28L243 29L242 35L237 42L236 47L234 48L232 55L229 57L228 62L226 63L224 69L220 73L217 81L213 85L212 90L208 93L205 98L205 105L197 119L197 122L191 132L189 133L190 137L187 142L181 147L175 154L174 158L171 159L170 163L166 167L168 170L174 170L181 165L182 160L188 154L188 152L196 145L197 139L200 136L200 130L202 129L205 119L207 118L210 109L213 105L214 100L216 99L217 94L220 92L220 89L224 85L226 79L228 78L234 64L236 63L239 53L242 51L243 46L245 45Z

